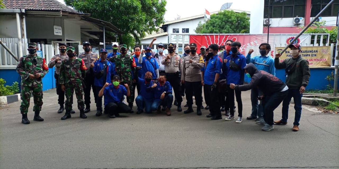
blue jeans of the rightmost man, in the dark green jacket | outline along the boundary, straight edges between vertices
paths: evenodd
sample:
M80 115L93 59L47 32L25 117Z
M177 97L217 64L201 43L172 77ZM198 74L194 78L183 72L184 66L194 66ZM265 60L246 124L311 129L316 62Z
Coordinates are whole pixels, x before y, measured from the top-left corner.
M287 122L288 119L288 105L290 105L291 98L294 100L295 117L293 125L299 125L301 116L301 97L299 89L288 89L288 95L282 102L282 119L281 121Z

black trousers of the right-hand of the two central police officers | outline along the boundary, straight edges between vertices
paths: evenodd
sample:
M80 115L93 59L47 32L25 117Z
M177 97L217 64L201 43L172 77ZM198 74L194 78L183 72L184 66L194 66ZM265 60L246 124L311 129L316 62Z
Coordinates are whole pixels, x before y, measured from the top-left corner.
M193 104L193 93L196 97L195 103L197 107L200 107L202 104L201 95L202 95L202 88L201 88L201 81L185 81L185 89L186 89L186 99L187 105L192 107Z

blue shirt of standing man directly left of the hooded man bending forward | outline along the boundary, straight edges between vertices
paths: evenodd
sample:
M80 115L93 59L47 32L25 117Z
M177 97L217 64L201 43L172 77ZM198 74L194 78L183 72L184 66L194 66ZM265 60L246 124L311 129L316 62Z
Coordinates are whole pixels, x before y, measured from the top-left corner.
M234 63L240 66L240 70L234 71L230 69L230 60L233 60ZM246 59L245 56L238 52L238 54L233 57L227 56L226 57L226 68L227 68L227 75L226 75L226 84L243 84L244 83L244 67L246 66Z

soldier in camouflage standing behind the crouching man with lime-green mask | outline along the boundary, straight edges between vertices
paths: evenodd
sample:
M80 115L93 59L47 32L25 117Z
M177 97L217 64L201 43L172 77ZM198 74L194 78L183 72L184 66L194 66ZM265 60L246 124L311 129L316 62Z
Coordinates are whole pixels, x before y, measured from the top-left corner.
M128 84L131 95L127 97L127 102L128 106L132 108L134 102L134 92L132 92L134 91L132 75L134 74L137 65L134 57L127 54L127 46L125 44L120 45L120 51L121 54L108 58L108 61L115 63L116 73L121 77L120 83L122 85Z

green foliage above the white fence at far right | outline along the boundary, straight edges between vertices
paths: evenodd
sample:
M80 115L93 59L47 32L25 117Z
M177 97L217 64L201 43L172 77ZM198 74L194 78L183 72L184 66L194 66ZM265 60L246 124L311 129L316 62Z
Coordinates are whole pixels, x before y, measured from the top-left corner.
M322 22L314 22L313 25L315 27L309 27L306 29L306 31L304 33L330 33L330 44L331 43L337 43L337 33L338 33L338 27L337 26L333 26L331 30L326 29L325 25L326 25L326 21L322 21ZM300 31L304 28L304 26L299 27ZM326 36L324 36L323 38L323 43L326 43ZM314 38L311 39L311 42L314 41ZM317 42L320 43L320 42Z

